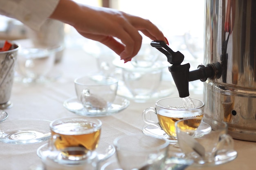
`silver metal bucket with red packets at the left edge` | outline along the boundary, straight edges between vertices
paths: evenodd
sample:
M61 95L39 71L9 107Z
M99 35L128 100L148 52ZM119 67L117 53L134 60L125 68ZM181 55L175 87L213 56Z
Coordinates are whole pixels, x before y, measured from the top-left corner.
M0 48L4 46L5 41L0 41ZM9 101L14 78L14 65L18 54L19 46L9 41L12 46L9 51L0 52L0 109L4 110L12 107Z

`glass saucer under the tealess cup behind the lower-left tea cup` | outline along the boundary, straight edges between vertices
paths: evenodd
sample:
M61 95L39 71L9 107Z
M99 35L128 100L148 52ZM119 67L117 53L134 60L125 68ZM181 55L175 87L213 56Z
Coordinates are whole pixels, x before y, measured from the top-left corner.
M103 112L89 112L86 110L83 105L78 101L77 97L72 97L70 99L65 100L63 106L80 116L91 116L91 117L100 117L100 116L108 116L124 110L130 105L130 101L125 99L124 97L116 96L115 101L112 103L111 108L103 111Z

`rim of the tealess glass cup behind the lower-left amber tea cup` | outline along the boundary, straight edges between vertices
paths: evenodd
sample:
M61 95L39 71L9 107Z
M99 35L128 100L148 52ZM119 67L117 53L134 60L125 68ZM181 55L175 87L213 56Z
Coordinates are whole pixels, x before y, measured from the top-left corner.
M106 83L106 84L84 84L79 82L79 80L84 79L84 78L90 78L90 77L101 77L104 79L109 79L111 80L110 82ZM111 77L111 76L106 76L106 75L100 75L100 74L92 74L92 75L84 75L81 77L77 77L76 79L74 79L74 83L81 85L81 86L107 86L107 85L111 85L111 84L116 84L118 83L118 79L115 77Z

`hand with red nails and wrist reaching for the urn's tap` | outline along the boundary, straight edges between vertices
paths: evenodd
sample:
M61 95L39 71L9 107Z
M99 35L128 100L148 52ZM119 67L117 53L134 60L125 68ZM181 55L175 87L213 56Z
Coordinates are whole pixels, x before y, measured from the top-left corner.
M85 38L105 44L125 62L130 61L141 47L139 31L151 40L166 41L163 33L149 20L115 9L77 4L71 0L60 0L51 18L74 26Z

